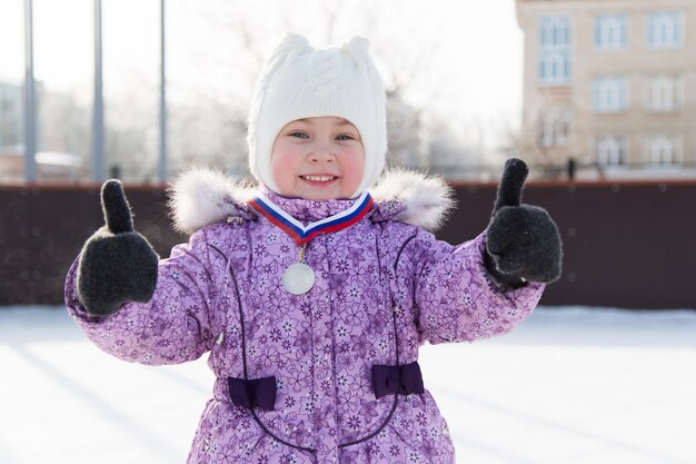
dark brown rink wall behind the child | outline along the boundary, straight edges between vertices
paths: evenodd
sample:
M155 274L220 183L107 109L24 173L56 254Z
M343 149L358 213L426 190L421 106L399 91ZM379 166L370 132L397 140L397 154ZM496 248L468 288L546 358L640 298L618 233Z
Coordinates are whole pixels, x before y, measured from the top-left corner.
M457 185L459 207L438 236L475 237L495 185ZM61 304L66 272L101 226L96 187L0 187L0 306ZM170 228L161 188L127 187L136 228L160 256L186 240ZM696 181L528 184L564 239L564 273L545 305L696 308Z

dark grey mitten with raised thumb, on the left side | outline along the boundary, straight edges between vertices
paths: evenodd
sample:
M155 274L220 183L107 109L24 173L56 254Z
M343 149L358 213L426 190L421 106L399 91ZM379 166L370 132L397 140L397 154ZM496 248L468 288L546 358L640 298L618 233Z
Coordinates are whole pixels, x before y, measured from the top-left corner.
M126 302L149 302L159 260L148 240L133 231L120 181L101 186L101 208L107 224L87 240L78 265L78 297L96 316L112 314Z

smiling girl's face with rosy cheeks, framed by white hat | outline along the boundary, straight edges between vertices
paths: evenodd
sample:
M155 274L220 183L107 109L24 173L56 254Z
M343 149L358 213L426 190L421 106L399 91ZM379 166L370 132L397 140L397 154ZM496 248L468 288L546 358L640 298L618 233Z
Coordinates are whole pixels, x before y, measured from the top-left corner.
M270 165L282 196L349 198L362 180L360 132L342 118L297 119L276 137Z

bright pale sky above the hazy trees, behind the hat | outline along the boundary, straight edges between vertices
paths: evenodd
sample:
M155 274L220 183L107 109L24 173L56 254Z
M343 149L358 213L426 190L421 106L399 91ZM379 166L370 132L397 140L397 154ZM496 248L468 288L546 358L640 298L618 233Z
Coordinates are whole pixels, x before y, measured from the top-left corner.
M23 0L0 1L0 80L23 75ZM93 0L34 0L36 77L89 99ZM105 91L151 91L158 82L159 1L103 0ZM335 18L331 19L331 16ZM521 32L514 0L168 0L172 98L219 92L248 99L255 57L286 30L316 46L365 36L387 82L444 118L518 124ZM329 27L332 24L332 27ZM253 52L245 50L245 33Z

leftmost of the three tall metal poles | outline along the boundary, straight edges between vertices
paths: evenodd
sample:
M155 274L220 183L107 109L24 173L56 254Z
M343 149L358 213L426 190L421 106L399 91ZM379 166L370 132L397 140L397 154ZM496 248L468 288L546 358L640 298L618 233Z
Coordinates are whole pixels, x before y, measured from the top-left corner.
M33 80L33 4L24 0L24 179L37 181L37 93Z

